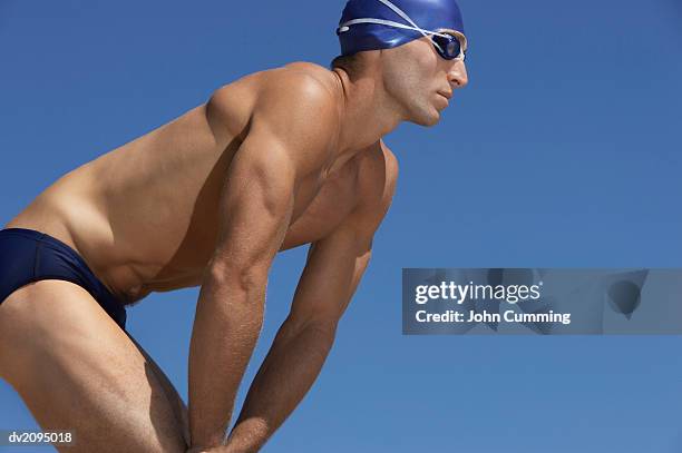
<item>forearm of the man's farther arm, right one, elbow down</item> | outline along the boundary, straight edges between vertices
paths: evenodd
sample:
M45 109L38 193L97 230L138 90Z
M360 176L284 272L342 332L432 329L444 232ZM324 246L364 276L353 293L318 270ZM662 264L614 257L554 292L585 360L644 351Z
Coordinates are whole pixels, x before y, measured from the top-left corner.
M288 319L261 365L227 440L228 453L257 452L301 402L329 355L335 325Z

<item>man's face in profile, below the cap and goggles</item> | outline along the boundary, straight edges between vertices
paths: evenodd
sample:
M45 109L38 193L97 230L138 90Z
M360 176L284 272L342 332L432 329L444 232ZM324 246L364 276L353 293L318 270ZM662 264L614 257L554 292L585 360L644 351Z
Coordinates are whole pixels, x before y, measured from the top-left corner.
M467 82L465 62L446 60L428 38L381 51L383 88L405 120L433 126L458 88Z

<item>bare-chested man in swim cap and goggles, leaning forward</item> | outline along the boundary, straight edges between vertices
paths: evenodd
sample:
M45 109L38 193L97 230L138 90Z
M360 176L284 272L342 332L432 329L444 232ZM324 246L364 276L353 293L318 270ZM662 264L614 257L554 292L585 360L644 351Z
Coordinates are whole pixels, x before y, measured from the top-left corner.
M216 90L67 174L0 232L0 376L78 452L255 452L302 400L364 272L398 166L467 83L454 0L351 0L332 70ZM225 440L279 250L310 244L291 312ZM125 332L125 305L201 285L189 404Z

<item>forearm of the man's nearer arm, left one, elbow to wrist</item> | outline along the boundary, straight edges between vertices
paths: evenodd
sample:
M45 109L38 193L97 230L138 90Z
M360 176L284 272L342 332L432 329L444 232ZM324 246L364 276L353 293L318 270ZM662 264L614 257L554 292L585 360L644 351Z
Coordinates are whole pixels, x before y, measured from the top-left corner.
M263 323L264 290L265 283L253 290L217 279L202 286L189 345L193 446L223 442Z

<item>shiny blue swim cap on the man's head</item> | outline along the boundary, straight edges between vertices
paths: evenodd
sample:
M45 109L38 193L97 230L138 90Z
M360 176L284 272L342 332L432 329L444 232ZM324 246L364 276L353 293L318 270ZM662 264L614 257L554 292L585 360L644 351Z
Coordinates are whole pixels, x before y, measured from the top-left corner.
M464 20L455 0L349 0L337 35L341 53L390 49L451 29L465 36ZM466 38L464 38L466 47Z

